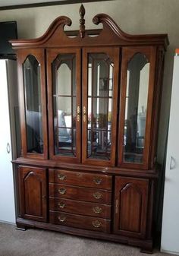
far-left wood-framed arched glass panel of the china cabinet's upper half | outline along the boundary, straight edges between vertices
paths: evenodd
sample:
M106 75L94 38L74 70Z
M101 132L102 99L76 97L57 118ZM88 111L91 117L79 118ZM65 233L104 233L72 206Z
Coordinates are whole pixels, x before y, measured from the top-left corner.
M22 156L47 158L46 84L43 50L18 52Z

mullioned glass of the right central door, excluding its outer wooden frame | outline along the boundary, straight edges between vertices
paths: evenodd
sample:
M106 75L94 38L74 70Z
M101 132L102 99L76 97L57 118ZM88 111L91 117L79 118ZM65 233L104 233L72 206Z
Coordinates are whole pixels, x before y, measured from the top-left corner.
M111 158L111 111L114 65L104 53L88 57L87 156Z

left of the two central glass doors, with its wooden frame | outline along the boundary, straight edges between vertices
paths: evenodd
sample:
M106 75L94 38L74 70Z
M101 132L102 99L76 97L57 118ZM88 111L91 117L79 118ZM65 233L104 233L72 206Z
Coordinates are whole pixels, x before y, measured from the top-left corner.
M47 58L50 157L79 163L80 49L49 49Z

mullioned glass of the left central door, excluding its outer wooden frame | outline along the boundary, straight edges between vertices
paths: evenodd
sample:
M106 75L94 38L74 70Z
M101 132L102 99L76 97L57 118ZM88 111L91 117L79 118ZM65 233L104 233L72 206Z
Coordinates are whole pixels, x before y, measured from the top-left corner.
M76 58L58 55L52 63L55 155L76 156Z

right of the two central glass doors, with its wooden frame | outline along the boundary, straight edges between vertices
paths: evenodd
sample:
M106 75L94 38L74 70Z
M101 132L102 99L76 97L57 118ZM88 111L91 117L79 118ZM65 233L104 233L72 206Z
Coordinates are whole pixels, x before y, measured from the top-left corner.
M115 165L119 49L83 49L83 163Z

